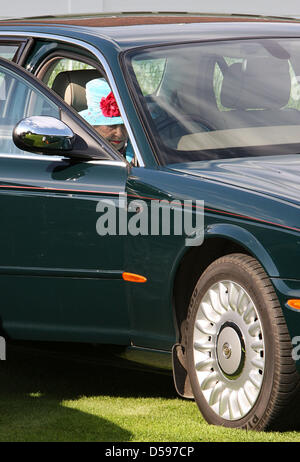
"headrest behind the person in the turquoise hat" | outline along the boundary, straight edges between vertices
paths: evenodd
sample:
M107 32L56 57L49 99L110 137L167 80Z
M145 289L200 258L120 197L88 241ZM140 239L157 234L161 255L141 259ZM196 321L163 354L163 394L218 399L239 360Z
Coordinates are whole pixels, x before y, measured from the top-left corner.
M54 79L52 90L80 112L87 108L85 96L87 82L99 77L102 75L96 69L60 72Z

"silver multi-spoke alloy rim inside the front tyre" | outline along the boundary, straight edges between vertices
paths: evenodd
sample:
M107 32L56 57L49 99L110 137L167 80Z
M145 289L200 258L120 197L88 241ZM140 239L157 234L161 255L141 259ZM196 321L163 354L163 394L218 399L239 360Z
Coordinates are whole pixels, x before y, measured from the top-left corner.
M258 312L239 284L220 281L206 292L195 319L193 353L211 409L226 420L244 417L262 387L265 350Z

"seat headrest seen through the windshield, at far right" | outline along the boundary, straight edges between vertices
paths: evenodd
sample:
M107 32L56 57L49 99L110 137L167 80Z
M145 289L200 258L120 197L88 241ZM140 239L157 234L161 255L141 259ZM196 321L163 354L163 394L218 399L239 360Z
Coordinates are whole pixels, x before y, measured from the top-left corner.
M221 104L232 109L275 109L287 105L291 92L289 62L251 58L224 72Z

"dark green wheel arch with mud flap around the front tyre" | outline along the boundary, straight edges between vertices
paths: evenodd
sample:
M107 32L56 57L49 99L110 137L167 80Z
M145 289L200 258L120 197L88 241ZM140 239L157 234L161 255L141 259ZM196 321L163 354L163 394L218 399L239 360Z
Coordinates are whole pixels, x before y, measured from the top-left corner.
M173 310L177 342L173 346L173 376L180 396L192 398L186 372L186 316L193 289L206 268L216 259L232 253L244 253L258 260L271 277L279 275L272 258L245 228L231 224L214 224L205 229L204 241L198 247L189 247L177 265L173 279Z

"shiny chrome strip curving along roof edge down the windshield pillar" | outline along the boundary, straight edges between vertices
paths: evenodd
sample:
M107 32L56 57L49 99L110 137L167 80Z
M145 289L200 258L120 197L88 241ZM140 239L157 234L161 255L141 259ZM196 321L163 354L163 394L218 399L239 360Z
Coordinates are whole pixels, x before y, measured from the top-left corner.
M17 31L5 31L5 32L0 31L0 37L2 37L2 36L8 37L10 34L13 34L14 37L24 37L24 38L34 37L34 38L58 40L60 42L65 42L65 43L70 43L70 40L72 40L71 43L73 45L77 45L79 47L85 48L86 50L91 52L99 60L100 64L103 66L103 69L104 69L104 71L105 71L105 73L106 73L106 75L108 77L109 84L110 84L111 89L112 89L112 91L113 91L113 93L115 95L115 98L117 100L117 103L118 103L118 106L119 106L119 109L120 109L120 112L121 112L122 119L124 120L124 124L125 124L126 130L127 130L130 142L132 144L135 156L136 156L137 161L138 161L138 165L139 165L139 167L144 167L145 166L145 163L144 163L143 158L141 156L140 150L139 150L139 148L137 146L137 143L135 141L133 131L131 129L129 120L127 118L127 114L126 114L126 111L124 109L122 100L120 98L119 91L118 91L115 79L113 77L113 74L112 74L112 72L110 70L109 64L106 61L106 59L104 58L104 56L101 54L101 52L97 48L95 48L93 45L90 45L90 44L88 44L86 42L83 42L81 40L73 39L73 38L72 39L67 39L66 37L63 37L61 35L56 35L56 34L45 34L45 33L37 33L37 32L29 32L28 34L24 34L24 32L17 32ZM23 156L23 155L20 154L18 157L20 158L21 156ZM25 155L25 157L28 157L28 155L27 156ZM43 156L43 157L45 157L45 156ZM24 157L22 157L22 158L24 158ZM36 157L34 156L34 158L36 158ZM53 158L53 156L51 156L51 158Z

